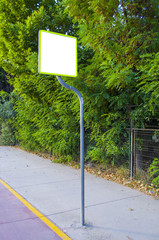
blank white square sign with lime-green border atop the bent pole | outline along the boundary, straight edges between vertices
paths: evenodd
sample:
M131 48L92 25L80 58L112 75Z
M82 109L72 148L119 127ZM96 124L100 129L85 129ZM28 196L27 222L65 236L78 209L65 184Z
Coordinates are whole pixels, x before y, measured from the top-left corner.
M77 38L39 31L39 73L77 76Z

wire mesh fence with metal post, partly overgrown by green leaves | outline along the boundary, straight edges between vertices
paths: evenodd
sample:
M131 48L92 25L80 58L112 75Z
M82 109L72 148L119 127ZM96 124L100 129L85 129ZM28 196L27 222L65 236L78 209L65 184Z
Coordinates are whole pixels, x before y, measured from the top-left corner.
M158 106L157 106L158 108ZM155 109L157 109L155 108ZM146 116L147 117L147 121ZM147 112L139 116L137 120L131 120L130 126L130 178L137 173L147 173L155 158L159 159L159 110L155 110L152 116ZM141 124L142 122L142 124Z

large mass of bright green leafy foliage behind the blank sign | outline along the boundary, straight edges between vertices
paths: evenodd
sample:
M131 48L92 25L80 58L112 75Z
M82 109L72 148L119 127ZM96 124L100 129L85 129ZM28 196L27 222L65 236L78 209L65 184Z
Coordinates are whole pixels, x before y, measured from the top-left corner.
M78 98L38 74L38 31L50 30L78 37L79 74L64 80L84 97L86 159L127 160L130 119L142 114L144 127L145 109L156 114L158 17L156 0L1 0L0 64L18 96L19 143L67 161L79 157Z

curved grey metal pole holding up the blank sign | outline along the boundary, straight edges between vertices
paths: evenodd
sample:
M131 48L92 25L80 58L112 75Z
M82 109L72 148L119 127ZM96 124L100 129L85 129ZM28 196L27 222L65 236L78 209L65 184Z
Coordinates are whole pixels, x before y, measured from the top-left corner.
M76 88L66 84L60 76L56 77L63 87L75 92L80 101L81 224L84 226L84 101L81 93Z

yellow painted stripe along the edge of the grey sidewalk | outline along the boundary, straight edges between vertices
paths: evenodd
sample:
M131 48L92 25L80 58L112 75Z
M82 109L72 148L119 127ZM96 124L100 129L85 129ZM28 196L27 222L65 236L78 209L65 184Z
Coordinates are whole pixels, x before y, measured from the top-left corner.
M13 190L7 183L0 179L2 183L11 193L13 193L27 208L29 208L38 218L40 218L48 227L50 227L59 237L63 240L71 240L65 233L63 233L55 224L53 224L48 218L28 203L21 195Z

